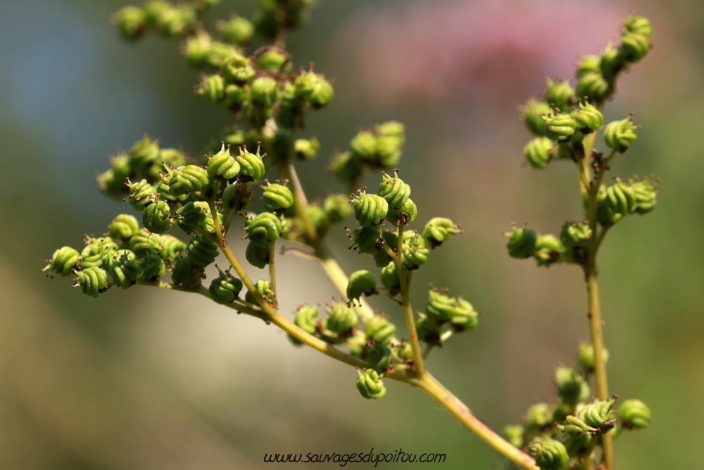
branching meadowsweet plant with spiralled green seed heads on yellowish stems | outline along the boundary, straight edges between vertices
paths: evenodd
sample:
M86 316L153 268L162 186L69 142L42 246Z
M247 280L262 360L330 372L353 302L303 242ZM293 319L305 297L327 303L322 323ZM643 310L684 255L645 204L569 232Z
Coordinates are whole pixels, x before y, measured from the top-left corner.
M582 269L591 343L579 346L578 364L555 370L557 399L533 404L502 437L425 367L434 349L477 327L477 311L456 292L436 287L427 291L422 313L411 305L413 274L461 230L442 214L419 214L410 198L411 187L396 169L406 141L403 125L389 121L357 132L330 164L346 192L308 202L296 166L315 159L320 142L301 133L309 114L332 101L334 89L320 70L296 66L284 44L290 30L308 22L312 1L261 0L253 18L232 16L209 32L204 18L215 4L218 0L178 5L151 0L115 13L125 39L153 34L177 39L187 64L203 70L196 94L232 111L232 122L204 157L163 147L149 135L111 157L111 168L97 178L99 188L107 197L129 201L141 221L132 214L115 216L103 236L85 237L80 249L57 249L44 271L73 276L73 286L92 297L134 285L203 295L273 323L296 346L352 366L350 386L356 383L362 397L385 397L388 380L415 385L517 468L612 470L613 440L622 431L647 427L650 410L608 390L596 254L624 217L653 209L658 190L647 178L605 179L636 140L638 126L631 116L605 124L601 109L620 73L650 49L648 20L627 18L619 44L582 57L576 88L566 78L548 80L543 97L522 107L534 134L524 148L528 163L539 169L574 163L584 214L553 234L514 225L506 234L508 254L535 259L538 266ZM359 187L369 174L377 175L378 185ZM184 235L172 235L176 228ZM369 255L367 270L348 276L330 254L325 239L343 234L343 228L351 247ZM230 248L239 238L246 239L244 259ZM282 246L319 259L341 297L325 307L280 311L277 286L287 282L276 276ZM227 268L214 266L220 254ZM251 277L248 265L267 270L267 276ZM380 292L396 300L405 324L372 310L366 297Z

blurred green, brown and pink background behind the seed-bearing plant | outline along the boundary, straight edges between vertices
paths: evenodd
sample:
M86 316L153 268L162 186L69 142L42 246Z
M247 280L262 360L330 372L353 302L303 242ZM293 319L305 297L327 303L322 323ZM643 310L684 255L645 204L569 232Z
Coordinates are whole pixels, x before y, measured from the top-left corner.
M265 469L272 452L444 452L444 469L505 462L418 390L388 383L363 400L355 371L201 297L135 287L99 299L39 272L57 247L80 247L128 204L94 177L144 132L199 152L227 122L192 93L177 43L120 41L121 0L0 2L0 469ZM253 0L218 12L251 13ZM633 112L639 139L613 173L662 178L658 207L610 233L601 252L610 389L655 417L617 441L620 470L696 469L704 442L704 4L627 1L320 1L291 35L296 65L334 78L336 99L310 118L318 161L299 169L315 197L340 191L325 165L356 130L406 123L402 177L420 221L448 216L465 234L414 278L464 295L479 328L429 368L501 428L551 400L553 368L588 339L577 268L509 259L511 221L555 233L581 214L570 165L532 171L517 104L543 76L572 75L620 22L653 21L655 48L625 75L606 118ZM369 185L377 178L370 176ZM370 259L334 251L350 271ZM237 245L241 250L241 246ZM282 309L336 295L314 261L279 263ZM372 299L394 319L386 299ZM361 465L361 464L357 464ZM415 464L416 466L422 466ZM282 465L284 466L284 465ZM401 468L401 464L384 464ZM286 468L333 468L310 464ZM405 468L406 465L403 465ZM379 466L381 468L381 466Z

